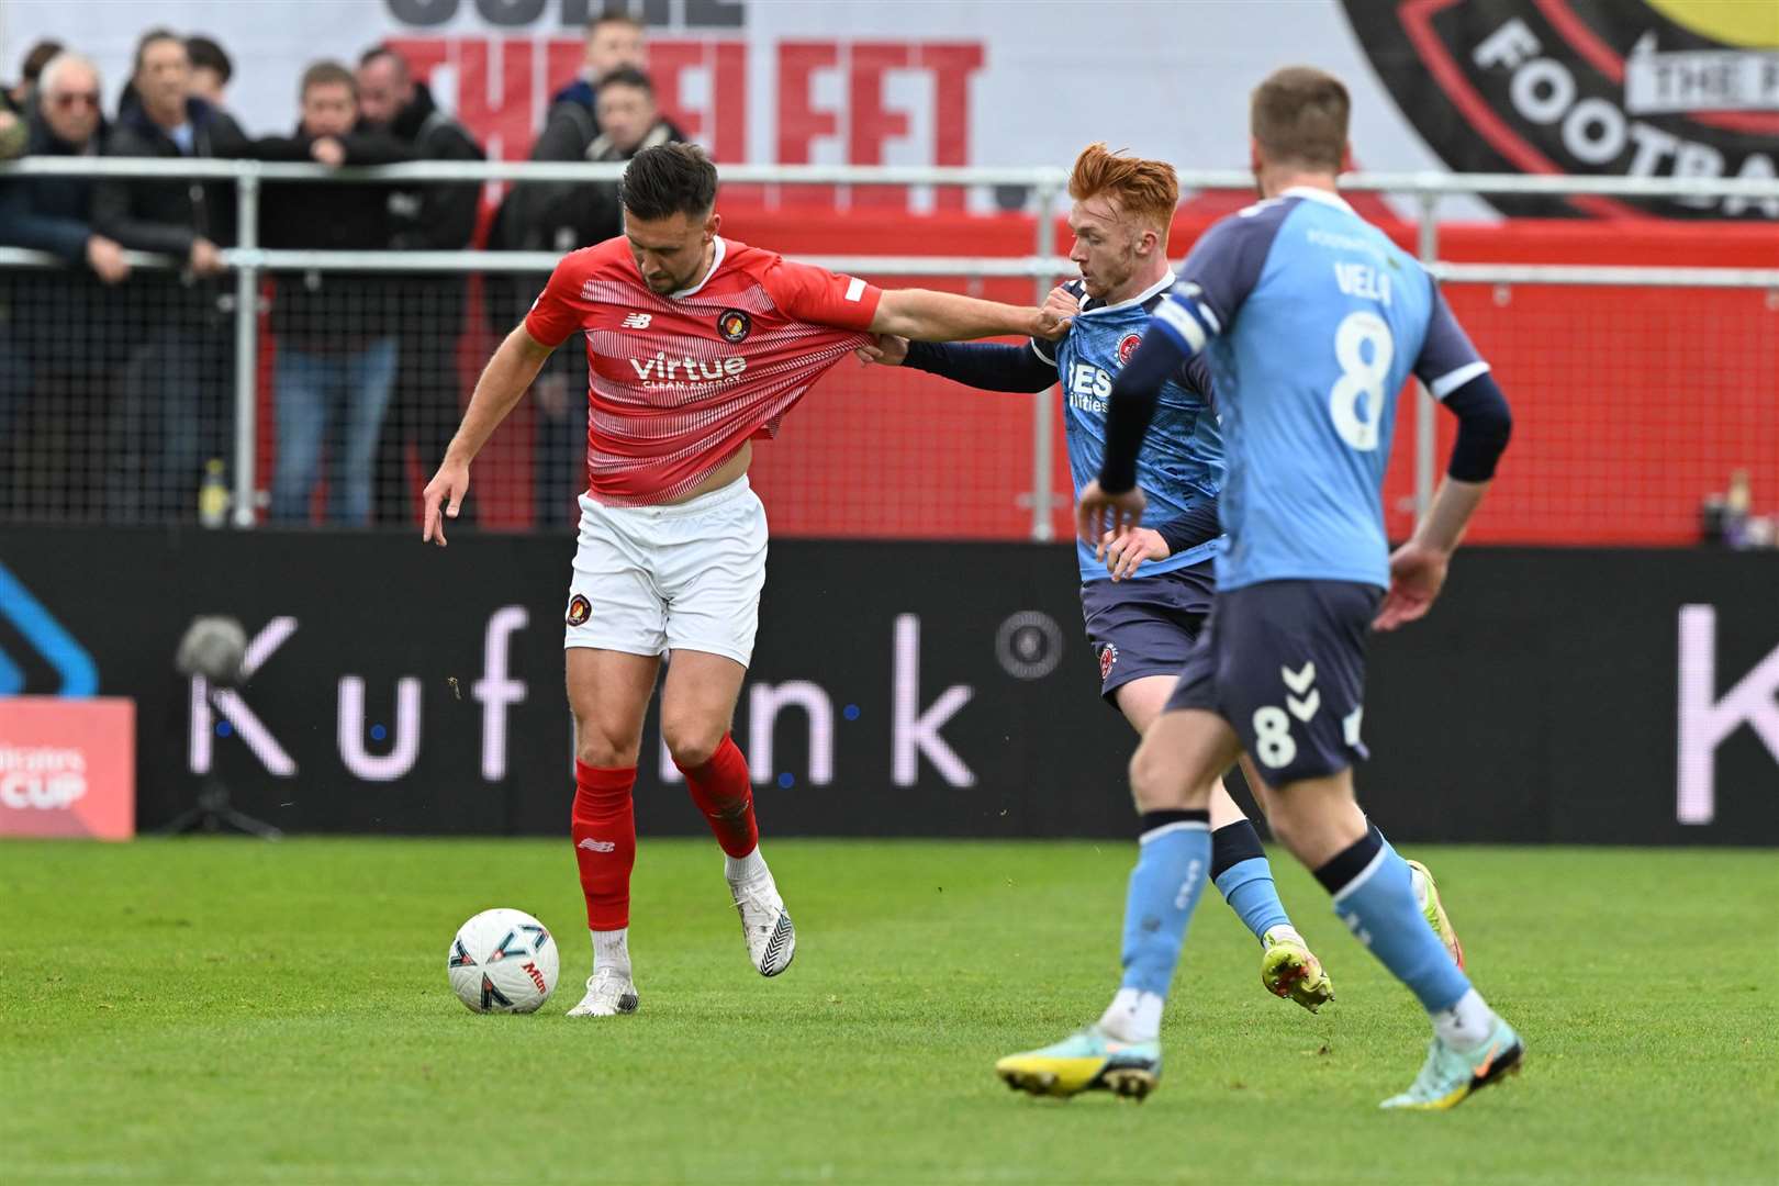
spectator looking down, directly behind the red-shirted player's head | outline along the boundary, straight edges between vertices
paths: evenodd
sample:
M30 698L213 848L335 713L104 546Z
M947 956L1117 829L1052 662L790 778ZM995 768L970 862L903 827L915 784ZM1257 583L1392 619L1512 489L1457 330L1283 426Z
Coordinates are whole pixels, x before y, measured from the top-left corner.
M655 107L655 84L633 66L619 66L600 82L596 98L600 135L585 149L587 160L630 160L644 148L683 139ZM624 233L624 212L617 203L616 181L576 185L557 206L559 220L573 228L576 247L605 242ZM546 526L568 523L571 507L564 491L578 493L587 466L587 400L582 397L578 361L573 350L557 350L573 365L546 365L532 388L537 407L537 461L532 480L537 519ZM551 357L551 363L555 359Z

